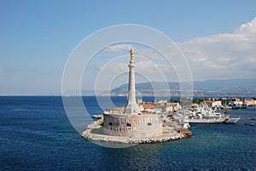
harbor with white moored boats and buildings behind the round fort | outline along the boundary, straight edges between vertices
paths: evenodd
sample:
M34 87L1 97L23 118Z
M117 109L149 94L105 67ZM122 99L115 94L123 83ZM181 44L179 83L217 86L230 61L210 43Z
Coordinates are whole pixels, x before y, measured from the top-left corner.
M161 117L165 117L164 121L168 119L169 121L176 121L177 123L237 123L240 120L240 117L230 117L230 109L226 109L223 105L211 107L209 105L200 105L200 104L193 104L189 107L183 109L179 103L168 103L167 100L161 100L163 105L162 109L157 108L159 105L160 100L156 100L154 103L149 102L151 105L150 110L144 109L143 111L151 111L154 113L159 113ZM148 106L145 102L143 102L144 106ZM145 105L146 104L146 105ZM154 104L154 105L152 105ZM167 111L167 105L177 105L179 106L176 110ZM173 108L175 109L175 108ZM246 109L246 108L243 108ZM234 110L234 109L233 109ZM100 119L103 115L93 115L91 116L96 119Z

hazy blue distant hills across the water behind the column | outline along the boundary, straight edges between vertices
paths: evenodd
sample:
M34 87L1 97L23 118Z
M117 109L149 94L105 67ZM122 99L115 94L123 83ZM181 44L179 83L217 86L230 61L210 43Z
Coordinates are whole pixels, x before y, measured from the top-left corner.
M256 78L250 79L225 79L225 80L206 80L195 81L195 95L256 95ZM125 95L127 94L128 83L118 88L113 88L111 94ZM180 84L177 82L152 82L137 83L136 89L142 95L165 95L171 92L172 95L178 95Z

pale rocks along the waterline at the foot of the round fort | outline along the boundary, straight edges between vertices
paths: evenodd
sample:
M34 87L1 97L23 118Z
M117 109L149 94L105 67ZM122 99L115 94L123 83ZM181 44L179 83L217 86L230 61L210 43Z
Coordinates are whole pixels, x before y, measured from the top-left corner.
M162 143L172 140L179 140L191 136L191 132L181 132L176 134L162 134L158 136L152 136L148 138L130 138L121 136L110 136L107 134L101 134L102 129L102 119L91 123L83 133L83 137L87 140L96 142L106 142L106 143L121 143L121 144L148 144L148 143ZM96 132L96 133L93 133Z

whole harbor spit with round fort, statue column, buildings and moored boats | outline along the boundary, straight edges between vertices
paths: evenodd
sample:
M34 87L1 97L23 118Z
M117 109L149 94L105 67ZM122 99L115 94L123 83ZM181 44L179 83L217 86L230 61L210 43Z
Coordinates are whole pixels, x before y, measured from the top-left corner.
M126 105L106 109L91 117L98 119L84 130L84 139L117 144L160 143L192 136L189 123L237 123L240 117L230 117L230 110L255 105L254 99L203 98L192 100L137 99L135 88L134 51L129 67L128 100ZM195 103L190 103L195 102ZM248 123L253 126L253 124Z

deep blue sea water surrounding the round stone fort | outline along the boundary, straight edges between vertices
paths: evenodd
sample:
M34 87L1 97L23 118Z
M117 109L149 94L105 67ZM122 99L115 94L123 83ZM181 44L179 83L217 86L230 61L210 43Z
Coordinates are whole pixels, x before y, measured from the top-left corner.
M83 100L90 114L102 112L95 97ZM256 126L244 124L256 123L256 107L230 115L241 120L193 124L188 139L112 149L81 138L61 97L2 96L0 170L256 170Z

